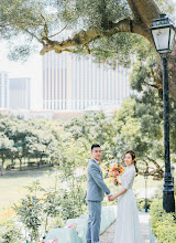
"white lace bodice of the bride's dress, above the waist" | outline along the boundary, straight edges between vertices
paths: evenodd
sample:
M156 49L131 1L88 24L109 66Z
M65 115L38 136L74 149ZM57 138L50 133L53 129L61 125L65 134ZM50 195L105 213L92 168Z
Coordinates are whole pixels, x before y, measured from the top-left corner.
M135 178L135 167L134 165L128 166L125 171L121 176L122 188L127 190L132 189Z

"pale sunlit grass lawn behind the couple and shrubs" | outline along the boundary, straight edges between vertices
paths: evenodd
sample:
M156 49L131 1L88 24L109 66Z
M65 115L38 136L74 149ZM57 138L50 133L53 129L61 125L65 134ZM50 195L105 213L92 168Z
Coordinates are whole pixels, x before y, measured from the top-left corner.
M46 175L46 171L52 170L48 168L34 169L29 171L9 171L2 177L0 177L0 214L7 211L13 203L16 203L19 199L23 198L26 194L25 186L29 186L30 182L40 180L41 186L48 188L53 186L52 177ZM105 182L112 190L112 193L119 190L117 187L113 187L111 179L106 179ZM147 188L157 188L160 184L163 184L162 181L153 180L152 177L147 179ZM145 180L144 177L138 176L133 186L134 190L145 190Z

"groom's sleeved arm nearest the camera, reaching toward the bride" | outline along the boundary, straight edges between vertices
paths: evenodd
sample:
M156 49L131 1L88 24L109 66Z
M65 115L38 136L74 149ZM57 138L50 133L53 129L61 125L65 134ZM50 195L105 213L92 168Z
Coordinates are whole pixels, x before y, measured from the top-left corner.
M103 182L103 179L100 175L99 169L95 166L91 165L89 168L89 173L91 175L91 177L94 178L94 180L96 181L96 183L106 192L106 194L109 197L111 196L111 192L109 190L109 188L107 187L107 184Z

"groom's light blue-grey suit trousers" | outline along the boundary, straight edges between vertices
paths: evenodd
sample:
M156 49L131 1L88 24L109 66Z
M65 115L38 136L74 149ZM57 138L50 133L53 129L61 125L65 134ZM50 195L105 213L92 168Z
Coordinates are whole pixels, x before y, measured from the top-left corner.
M101 202L88 201L89 219L87 229L87 243L99 243L101 223Z

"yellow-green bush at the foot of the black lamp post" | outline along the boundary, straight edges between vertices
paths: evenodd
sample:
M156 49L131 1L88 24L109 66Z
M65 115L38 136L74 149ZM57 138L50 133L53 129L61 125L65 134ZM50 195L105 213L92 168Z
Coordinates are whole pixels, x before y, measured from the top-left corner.
M176 221L174 213L166 213L163 210L162 200L151 204L152 231L157 237L158 243L176 242Z

